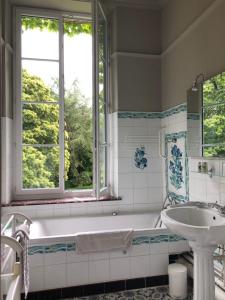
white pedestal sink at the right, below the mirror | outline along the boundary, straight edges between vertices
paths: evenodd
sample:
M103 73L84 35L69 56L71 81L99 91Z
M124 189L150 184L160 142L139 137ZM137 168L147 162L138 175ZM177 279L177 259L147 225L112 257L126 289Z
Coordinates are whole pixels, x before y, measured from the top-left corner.
M163 223L189 241L194 252L194 300L214 300L213 252L225 243L225 215L198 202L174 205L161 212Z

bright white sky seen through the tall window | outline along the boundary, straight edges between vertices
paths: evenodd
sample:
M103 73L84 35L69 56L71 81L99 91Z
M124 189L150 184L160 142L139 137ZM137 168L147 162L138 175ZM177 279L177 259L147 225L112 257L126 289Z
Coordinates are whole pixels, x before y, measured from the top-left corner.
M22 57L58 60L58 33L26 30L22 34ZM23 60L22 67L41 77L52 86L52 78L58 78L58 62ZM89 34L64 36L64 82L69 89L78 80L81 93L92 101L92 38Z

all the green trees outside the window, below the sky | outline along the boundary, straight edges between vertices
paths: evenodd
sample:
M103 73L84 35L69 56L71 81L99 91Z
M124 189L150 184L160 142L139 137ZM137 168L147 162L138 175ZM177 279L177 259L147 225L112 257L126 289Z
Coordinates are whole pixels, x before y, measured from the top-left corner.
M57 187L59 182L58 147L35 147L59 143L59 108L53 91L41 78L22 72L23 99L23 187ZM38 104L32 104L37 101ZM34 145L34 146L32 146ZM65 183L66 188L92 186L92 110L80 94L78 82L65 93Z

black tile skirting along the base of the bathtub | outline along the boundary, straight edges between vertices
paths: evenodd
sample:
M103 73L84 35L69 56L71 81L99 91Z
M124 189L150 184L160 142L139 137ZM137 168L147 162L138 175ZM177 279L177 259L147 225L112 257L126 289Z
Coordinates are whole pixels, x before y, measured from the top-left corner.
M69 297L85 297L97 294L113 293L131 289L162 286L168 284L168 275L142 277L119 281L108 281L103 283L88 284L82 286L66 287L60 289L31 292L27 300L49 300L63 299ZM21 299L24 299L22 294Z

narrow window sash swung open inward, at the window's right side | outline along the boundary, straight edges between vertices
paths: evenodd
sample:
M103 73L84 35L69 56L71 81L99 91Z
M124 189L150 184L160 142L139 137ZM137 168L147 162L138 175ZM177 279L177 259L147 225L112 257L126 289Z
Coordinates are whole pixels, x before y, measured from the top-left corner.
M93 1L93 57L94 62L94 110L95 123L95 157L98 168L95 169L95 190L97 198L107 192L108 181L108 48L107 19L100 1Z

